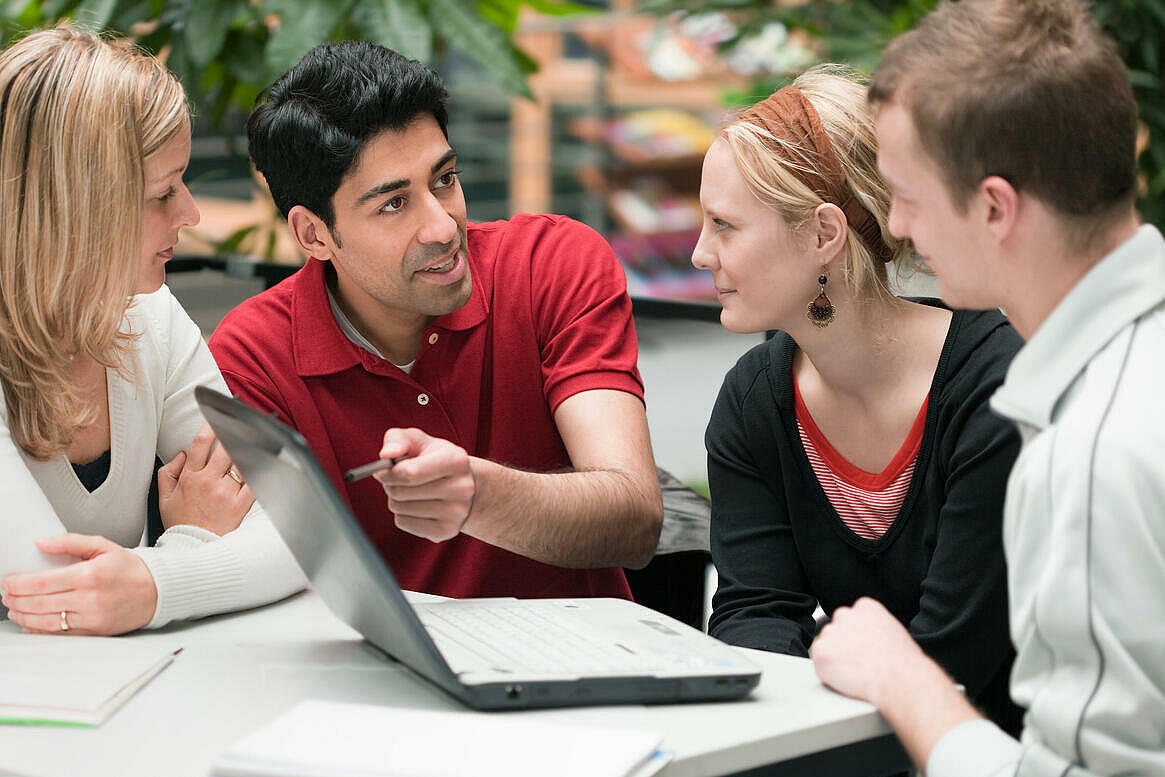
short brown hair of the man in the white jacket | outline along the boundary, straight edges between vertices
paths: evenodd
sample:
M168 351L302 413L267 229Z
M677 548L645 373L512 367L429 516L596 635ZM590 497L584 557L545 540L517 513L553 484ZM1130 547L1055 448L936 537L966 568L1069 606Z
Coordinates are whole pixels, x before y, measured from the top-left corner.
M1081 0L944 0L890 43L871 103L898 103L959 209L1005 178L1081 226L1136 197L1137 104Z

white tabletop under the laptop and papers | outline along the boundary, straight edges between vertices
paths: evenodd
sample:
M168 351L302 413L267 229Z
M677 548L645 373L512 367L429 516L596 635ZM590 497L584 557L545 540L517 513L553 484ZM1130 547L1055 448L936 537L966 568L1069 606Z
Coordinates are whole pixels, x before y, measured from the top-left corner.
M0 623L0 642L21 636ZM204 777L217 753L305 698L465 709L365 643L312 593L123 638L183 651L99 728L0 726L0 775ZM781 775L906 768L874 708L824 688L809 661L748 654L764 676L742 701L492 714L662 729L663 747L676 753L662 777L763 774L753 770L782 762ZM386 732L386 747L390 740Z

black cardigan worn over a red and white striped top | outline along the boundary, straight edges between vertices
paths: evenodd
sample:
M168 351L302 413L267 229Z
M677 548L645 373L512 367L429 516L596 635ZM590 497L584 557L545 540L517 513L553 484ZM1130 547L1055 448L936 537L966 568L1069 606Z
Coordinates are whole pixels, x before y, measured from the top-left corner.
M709 633L807 656L818 602L831 614L873 596L988 716L1018 732L1002 517L1019 438L988 398L1022 345L996 311L953 313L910 490L874 541L846 528L805 455L793 411L797 344L778 332L741 356L705 436L720 580Z

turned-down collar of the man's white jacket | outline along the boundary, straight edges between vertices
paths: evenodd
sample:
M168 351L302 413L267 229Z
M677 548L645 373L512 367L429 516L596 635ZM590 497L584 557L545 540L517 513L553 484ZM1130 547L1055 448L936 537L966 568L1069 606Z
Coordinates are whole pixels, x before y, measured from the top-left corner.
M1165 301L1165 239L1152 225L1096 263L1024 345L991 397L996 412L1043 429L1109 340Z

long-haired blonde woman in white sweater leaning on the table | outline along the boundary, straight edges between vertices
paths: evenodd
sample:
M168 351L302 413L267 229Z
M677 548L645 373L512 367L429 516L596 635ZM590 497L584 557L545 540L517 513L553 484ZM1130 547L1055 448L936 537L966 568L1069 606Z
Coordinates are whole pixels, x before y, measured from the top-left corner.
M129 43L59 27L0 54L0 591L28 631L121 634L304 585L193 400L225 384L163 285L198 222L189 158L182 86ZM155 457L165 531L144 548Z

